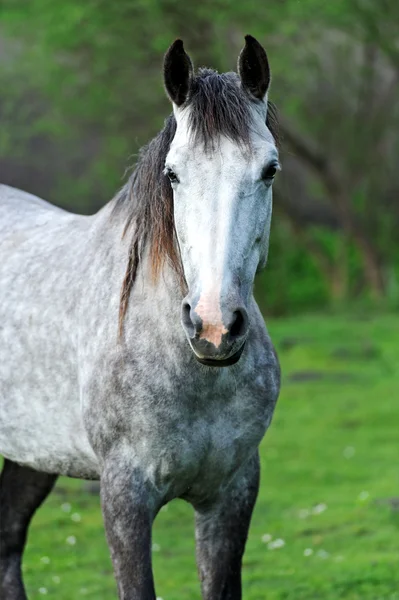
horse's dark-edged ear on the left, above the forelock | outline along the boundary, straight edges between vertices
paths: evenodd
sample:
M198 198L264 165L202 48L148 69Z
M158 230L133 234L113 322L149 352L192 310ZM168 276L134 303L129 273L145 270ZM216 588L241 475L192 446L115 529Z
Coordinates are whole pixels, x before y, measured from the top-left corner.
M187 100L193 76L193 63L184 51L182 40L173 42L165 54L163 74L169 98L176 106L181 106Z

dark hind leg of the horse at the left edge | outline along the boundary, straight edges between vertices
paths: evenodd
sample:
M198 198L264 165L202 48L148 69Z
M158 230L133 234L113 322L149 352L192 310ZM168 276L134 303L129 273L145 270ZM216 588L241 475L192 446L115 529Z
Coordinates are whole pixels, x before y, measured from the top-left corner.
M26 600L21 561L30 520L52 490L57 475L4 460L0 476L0 597Z

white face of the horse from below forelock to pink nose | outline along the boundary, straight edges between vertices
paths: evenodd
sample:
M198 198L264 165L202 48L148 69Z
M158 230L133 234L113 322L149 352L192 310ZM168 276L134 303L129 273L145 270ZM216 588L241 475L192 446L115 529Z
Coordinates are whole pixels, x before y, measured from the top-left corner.
M225 137L208 152L195 144L189 111L175 107L177 130L166 165L179 178L175 223L191 308L202 320L199 337L219 347L229 326L223 304L234 304L234 298L246 304L240 282L253 278L263 252L254 246L255 237L268 245L271 189L260 174L277 154L265 125L266 104L253 110L250 153Z

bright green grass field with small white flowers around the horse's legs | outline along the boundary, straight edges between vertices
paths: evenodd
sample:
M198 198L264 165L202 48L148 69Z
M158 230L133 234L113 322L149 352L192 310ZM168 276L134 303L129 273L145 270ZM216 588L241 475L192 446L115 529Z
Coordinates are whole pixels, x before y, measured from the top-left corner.
M399 599L399 316L270 320L283 385L261 447L246 600ZM154 531L157 595L198 600L193 514ZM31 527L30 599L116 598L99 499L60 479Z

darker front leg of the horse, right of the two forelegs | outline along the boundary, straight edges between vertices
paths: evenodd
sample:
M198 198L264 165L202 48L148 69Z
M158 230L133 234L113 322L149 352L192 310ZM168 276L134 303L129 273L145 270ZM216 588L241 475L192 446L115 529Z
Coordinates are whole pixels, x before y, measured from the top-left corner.
M204 600L240 600L241 563L259 487L254 456L216 503L196 507L197 564Z

